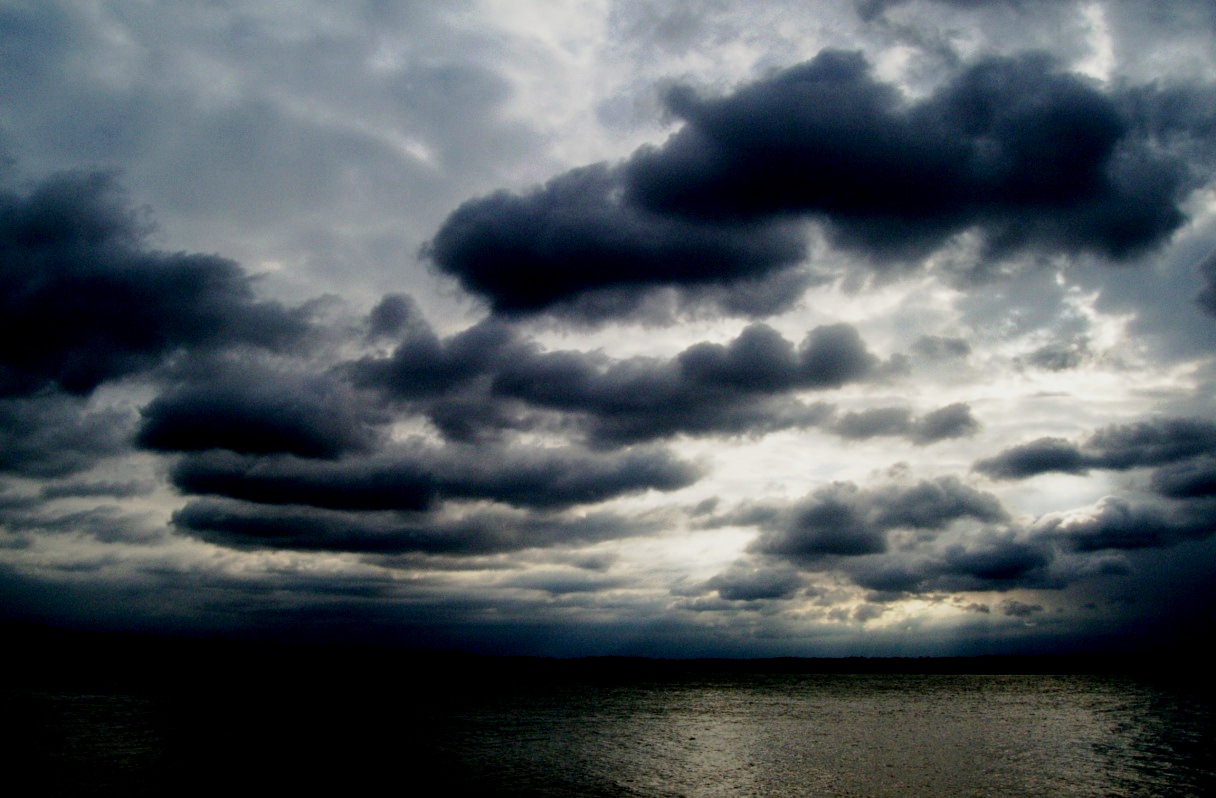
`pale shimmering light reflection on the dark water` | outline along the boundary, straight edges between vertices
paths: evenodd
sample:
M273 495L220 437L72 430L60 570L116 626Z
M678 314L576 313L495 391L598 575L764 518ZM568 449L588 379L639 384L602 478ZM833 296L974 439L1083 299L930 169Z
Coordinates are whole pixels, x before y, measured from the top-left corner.
M641 796L1212 794L1211 707L1094 676L734 678L449 719L488 786ZM548 791L548 792L546 792Z

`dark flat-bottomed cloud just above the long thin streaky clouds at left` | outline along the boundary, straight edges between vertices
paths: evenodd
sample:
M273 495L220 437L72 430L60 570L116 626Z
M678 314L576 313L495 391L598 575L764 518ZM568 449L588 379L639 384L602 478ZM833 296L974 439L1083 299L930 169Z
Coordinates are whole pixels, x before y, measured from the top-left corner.
M388 421L334 378L249 364L195 371L142 416L136 442L146 449L331 459L371 450L381 438L376 423Z

